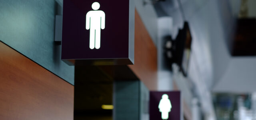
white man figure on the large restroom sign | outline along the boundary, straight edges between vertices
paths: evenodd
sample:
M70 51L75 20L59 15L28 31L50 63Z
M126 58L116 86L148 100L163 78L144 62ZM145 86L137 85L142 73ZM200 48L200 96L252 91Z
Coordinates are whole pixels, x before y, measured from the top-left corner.
M93 10L86 14L86 30L90 29L90 49L100 48L100 30L105 28L105 13L99 8L100 4L94 2Z

